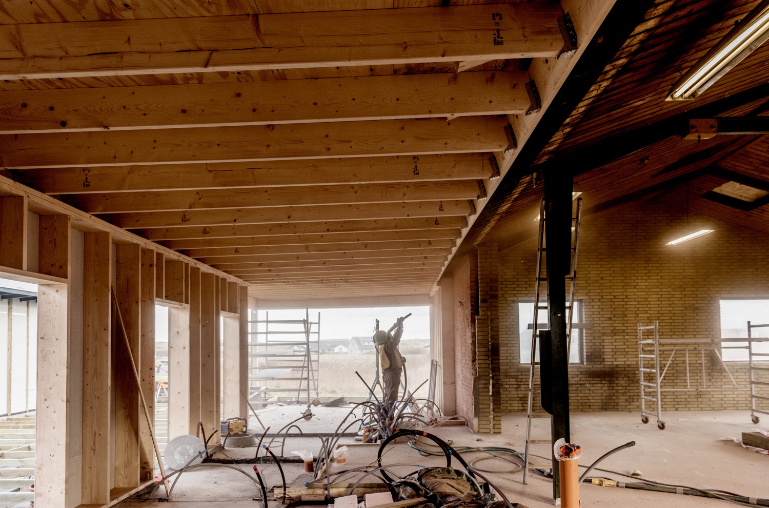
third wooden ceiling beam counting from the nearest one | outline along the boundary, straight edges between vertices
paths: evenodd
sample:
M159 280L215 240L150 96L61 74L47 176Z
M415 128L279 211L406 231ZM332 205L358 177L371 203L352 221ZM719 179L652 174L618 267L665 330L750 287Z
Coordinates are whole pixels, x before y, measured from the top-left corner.
M508 120L468 116L0 135L3 169L501 152Z

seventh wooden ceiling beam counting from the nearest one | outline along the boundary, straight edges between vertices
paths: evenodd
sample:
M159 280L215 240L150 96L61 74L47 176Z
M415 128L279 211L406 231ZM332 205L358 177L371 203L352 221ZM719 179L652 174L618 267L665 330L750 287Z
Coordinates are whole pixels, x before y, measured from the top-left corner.
M247 236L307 235L314 233L411 231L413 229L462 229L468 226L464 216L406 219L338 220L329 222L286 222L282 224L242 224L238 226L204 226L152 228L135 231L148 240L185 240L200 238L238 238Z

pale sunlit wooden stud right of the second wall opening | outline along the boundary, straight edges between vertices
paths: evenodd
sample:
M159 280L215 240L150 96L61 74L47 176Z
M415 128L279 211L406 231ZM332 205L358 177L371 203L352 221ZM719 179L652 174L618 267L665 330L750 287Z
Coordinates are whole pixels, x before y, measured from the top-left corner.
M168 307L168 439L198 433L190 414L190 311Z

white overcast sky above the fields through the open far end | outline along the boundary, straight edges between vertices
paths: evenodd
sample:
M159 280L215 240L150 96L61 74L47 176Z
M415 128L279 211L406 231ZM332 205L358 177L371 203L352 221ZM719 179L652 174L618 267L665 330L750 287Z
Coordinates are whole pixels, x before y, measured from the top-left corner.
M381 329L389 329L395 319L411 312L405 320L403 339L430 338L430 307L378 307L362 309L310 309L310 320L318 320L321 312L321 340L370 337L374 334L375 319ZM259 311L258 319L265 319L266 311ZM304 310L271 310L270 319L304 319ZM271 327L272 329L272 327ZM275 328L279 329L279 328Z

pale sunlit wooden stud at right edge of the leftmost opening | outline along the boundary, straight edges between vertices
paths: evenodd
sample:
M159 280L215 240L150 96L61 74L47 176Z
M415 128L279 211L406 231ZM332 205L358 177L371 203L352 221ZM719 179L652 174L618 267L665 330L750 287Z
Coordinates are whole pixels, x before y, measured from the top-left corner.
M35 503L42 508L66 506L68 487L75 489L67 452L69 286L38 286L37 429L35 432ZM84 443L85 444L85 443ZM84 446L85 448L85 446Z

